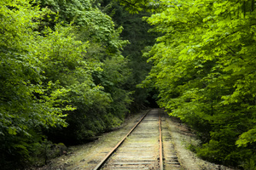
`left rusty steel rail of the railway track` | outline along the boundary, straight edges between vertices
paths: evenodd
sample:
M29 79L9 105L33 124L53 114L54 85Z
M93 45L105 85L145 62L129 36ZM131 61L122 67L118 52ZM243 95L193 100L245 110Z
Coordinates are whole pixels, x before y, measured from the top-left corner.
M149 110L149 111L151 111L151 110ZM148 112L149 112L149 111L148 111ZM108 152L108 155L105 156L105 157L102 159L102 161L99 162L99 163L97 164L97 166L96 166L93 170L99 170L99 169L104 165L104 163L105 163L106 161L108 161L108 158L113 155L113 152L119 148L119 146L120 146L120 145L125 141L125 139L131 134L131 132L137 127L137 125L138 125L140 122L143 121L143 118L148 115L148 112L140 119L139 122L136 123L136 125L134 125L134 127L131 128L131 131L130 131L129 133L127 133L123 139L121 139L121 141L119 142L119 144L116 144L116 145L114 146L113 150L111 150L110 152Z

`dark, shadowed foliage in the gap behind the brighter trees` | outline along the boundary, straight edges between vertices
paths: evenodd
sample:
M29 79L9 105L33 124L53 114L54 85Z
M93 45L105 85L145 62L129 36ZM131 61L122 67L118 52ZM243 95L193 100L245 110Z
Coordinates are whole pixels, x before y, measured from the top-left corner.
M146 12L129 14L125 7L120 6L116 1L101 0L97 2L100 3L101 10L112 17L116 27L123 27L124 30L120 33L120 36L130 42L125 46L122 54L126 59L129 59L128 67L131 70L128 81L123 85L125 89L134 92L131 94L133 99L130 106L131 112L139 111L145 106L154 107L152 105L154 103L152 101L153 89L136 88L137 84L143 81L151 69L151 64L147 63L147 58L142 57L143 50L148 50L144 48L150 48L154 45L154 38L156 37L154 32L148 33L151 26L145 20L142 20L143 16L149 16L149 14Z

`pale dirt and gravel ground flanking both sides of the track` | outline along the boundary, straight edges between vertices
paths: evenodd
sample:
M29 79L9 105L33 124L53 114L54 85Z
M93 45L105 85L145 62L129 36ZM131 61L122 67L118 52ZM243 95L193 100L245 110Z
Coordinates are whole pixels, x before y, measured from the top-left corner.
M102 134L102 136L94 142L68 147L66 155L50 160L48 165L44 167L32 167L30 169L93 169L96 165L94 161L100 160L104 155L107 155L108 151L119 142L119 139L122 139L125 134L129 132L130 128L134 126L145 112L146 111L142 111L140 114L128 118L119 129ZM189 144L197 144L199 142L195 139L195 134L184 124L178 122L176 118L167 116L166 122L168 122L168 129L171 131L178 161L181 163L184 170L233 170L230 167L203 161L195 156L195 153L187 149Z

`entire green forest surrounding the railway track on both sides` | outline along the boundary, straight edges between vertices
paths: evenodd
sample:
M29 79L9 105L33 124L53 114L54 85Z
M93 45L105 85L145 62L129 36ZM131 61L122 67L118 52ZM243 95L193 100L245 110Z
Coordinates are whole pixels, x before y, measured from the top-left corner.
M35 165L159 105L197 133L197 156L256 169L255 7L0 1L0 166Z

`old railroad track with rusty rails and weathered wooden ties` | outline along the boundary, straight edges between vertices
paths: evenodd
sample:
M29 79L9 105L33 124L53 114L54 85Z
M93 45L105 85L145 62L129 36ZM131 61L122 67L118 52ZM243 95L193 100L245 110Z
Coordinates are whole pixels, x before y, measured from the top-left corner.
M182 169L161 112L148 111L93 170Z

